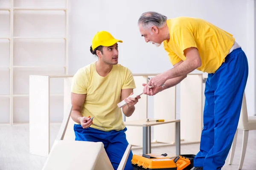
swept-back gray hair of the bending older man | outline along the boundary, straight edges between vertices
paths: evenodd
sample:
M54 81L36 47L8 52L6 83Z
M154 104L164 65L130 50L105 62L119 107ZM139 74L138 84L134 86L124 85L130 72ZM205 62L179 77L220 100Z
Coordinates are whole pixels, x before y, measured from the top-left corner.
M163 28L166 24L167 17L154 11L148 11L141 14L138 25L142 25L143 28L149 28L151 26L157 26L157 28Z

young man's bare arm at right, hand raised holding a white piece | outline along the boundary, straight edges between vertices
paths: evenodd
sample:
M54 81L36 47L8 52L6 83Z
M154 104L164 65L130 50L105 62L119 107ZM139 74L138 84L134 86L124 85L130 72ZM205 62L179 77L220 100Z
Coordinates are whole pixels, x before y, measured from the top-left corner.
M125 99L125 102L127 103L127 105L122 107L122 111L125 114L125 116L127 116L127 117L131 116L132 113L134 113L134 111L135 111L135 106L134 105L140 99L140 96L137 96L136 99L132 98L132 97L129 97L132 94L133 94L133 89L132 88L122 89L122 91L121 91L121 100Z

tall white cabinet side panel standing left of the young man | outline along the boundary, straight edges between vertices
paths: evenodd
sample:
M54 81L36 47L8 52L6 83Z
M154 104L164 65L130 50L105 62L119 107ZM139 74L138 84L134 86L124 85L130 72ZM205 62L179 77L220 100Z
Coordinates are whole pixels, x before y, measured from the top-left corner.
M48 156L49 77L30 76L29 80L29 152Z

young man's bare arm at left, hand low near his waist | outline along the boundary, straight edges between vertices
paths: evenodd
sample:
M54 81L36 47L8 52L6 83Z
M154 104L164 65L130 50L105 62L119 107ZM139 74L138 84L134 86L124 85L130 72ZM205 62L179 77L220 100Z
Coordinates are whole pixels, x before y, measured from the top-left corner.
M90 120L90 118L84 117L81 114L85 97L86 94L75 94L71 92L71 118L76 123L80 123L83 128L90 127L90 125L92 125L93 122L92 120Z

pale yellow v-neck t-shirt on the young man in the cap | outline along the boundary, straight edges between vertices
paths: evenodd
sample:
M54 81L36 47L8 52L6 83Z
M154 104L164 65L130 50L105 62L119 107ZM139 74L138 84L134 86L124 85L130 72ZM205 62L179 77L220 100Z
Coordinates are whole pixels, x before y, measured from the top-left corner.
M122 65L113 65L106 77L100 76L96 71L96 62L80 68L73 77L71 92L86 94L82 116L90 116L93 123L105 128L104 131L123 130L121 108L121 90L136 88L133 75L128 68ZM100 127L91 127L103 130Z

